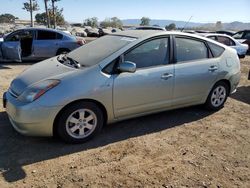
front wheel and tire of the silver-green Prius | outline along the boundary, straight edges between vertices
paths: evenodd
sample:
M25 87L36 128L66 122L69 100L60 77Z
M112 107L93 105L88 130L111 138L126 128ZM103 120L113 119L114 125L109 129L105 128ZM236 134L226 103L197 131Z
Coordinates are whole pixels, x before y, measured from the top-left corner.
M95 103L78 102L59 115L56 131L65 142L78 144L93 138L103 124L103 112Z

